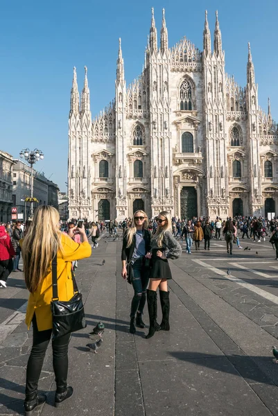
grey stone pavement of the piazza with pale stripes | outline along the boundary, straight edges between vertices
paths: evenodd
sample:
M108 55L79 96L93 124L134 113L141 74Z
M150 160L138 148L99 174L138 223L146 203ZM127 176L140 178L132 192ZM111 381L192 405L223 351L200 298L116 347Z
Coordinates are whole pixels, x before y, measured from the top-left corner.
M252 251L228 257L225 242L214 241L210 252L183 253L171 262L171 331L146 340L147 329L128 332L132 287L121 278L121 240L104 236L76 273L87 328L73 333L69 346L74 396L53 407L49 347L39 385L48 400L36 414L278 415L278 365L270 352L278 336L278 262L269 243L247 243ZM0 415L22 415L31 347L23 275L12 273L0 296ZM100 320L103 345L92 354L88 332Z

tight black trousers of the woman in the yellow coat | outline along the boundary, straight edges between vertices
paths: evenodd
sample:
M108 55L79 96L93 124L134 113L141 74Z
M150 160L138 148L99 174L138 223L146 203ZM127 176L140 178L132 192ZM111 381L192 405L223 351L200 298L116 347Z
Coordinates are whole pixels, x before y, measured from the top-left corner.
M39 331L37 329L37 320L35 313L33 317L33 347L28 359L26 372L26 400L33 400L37 394L37 383L42 372L44 356L51 339L52 329ZM67 388L67 370L68 370L68 347L71 334L61 336L52 341L53 349L53 370L58 393L64 392Z

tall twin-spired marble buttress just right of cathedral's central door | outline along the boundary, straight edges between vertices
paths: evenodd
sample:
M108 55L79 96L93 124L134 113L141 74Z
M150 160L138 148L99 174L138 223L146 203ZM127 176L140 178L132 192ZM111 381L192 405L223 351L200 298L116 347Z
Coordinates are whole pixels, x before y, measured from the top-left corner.
M214 52L210 53L210 32L205 15L203 76L205 115L205 157L207 209L209 216L225 216L229 211L227 177L227 143L225 123L225 53L216 12Z

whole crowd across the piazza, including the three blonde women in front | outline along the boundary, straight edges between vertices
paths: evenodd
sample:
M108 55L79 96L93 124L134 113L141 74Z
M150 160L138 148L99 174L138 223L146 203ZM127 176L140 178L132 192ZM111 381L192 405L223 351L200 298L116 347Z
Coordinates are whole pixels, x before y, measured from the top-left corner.
M31 416L37 407L46 401L39 395L37 384L49 341L52 339L53 370L55 373L55 406L73 395L73 388L67 385L68 346L70 332L53 338L53 270L57 271L59 299L71 302L76 294L74 271L78 260L89 257L92 249L98 248L101 232L119 239L122 229L123 245L121 251L123 279L132 284L134 295L130 306L130 333L136 327L145 328L143 315L147 302L150 326L146 338L152 338L157 331L170 330L170 293L168 280L172 279L168 259L177 259L182 254L178 240L186 241L186 252L211 250L211 239L224 239L227 253L232 254L233 244L241 248L241 239L253 239L260 243L270 236L270 243L276 248L278 260L278 218L255 216L226 218L191 218L180 220L171 218L162 211L155 218L148 218L144 211L136 211L132 218L118 222L92 221L72 218L67 223L59 220L58 211L49 206L35 210L33 220L26 224L0 225L0 285L6 288L11 272L24 271L26 287L30 292L26 311L28 329L33 326L33 345L26 369L26 415ZM242 235L241 235L242 233ZM92 243L88 241L90 239ZM24 270L19 268L22 256ZM57 259L57 261L56 261ZM162 322L157 322L157 289L162 309Z

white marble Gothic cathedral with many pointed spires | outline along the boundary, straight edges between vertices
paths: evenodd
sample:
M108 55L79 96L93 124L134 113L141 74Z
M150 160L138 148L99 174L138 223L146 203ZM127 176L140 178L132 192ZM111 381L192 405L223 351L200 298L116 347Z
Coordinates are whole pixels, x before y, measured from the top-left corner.
M152 10L153 11L153 10ZM168 47L154 12L141 76L126 87L119 40L115 98L92 121L87 68L79 101L73 70L69 114L69 217L278 213L278 130L258 105L248 44L247 83L225 73L216 12L214 50L205 16L203 51L184 37Z

